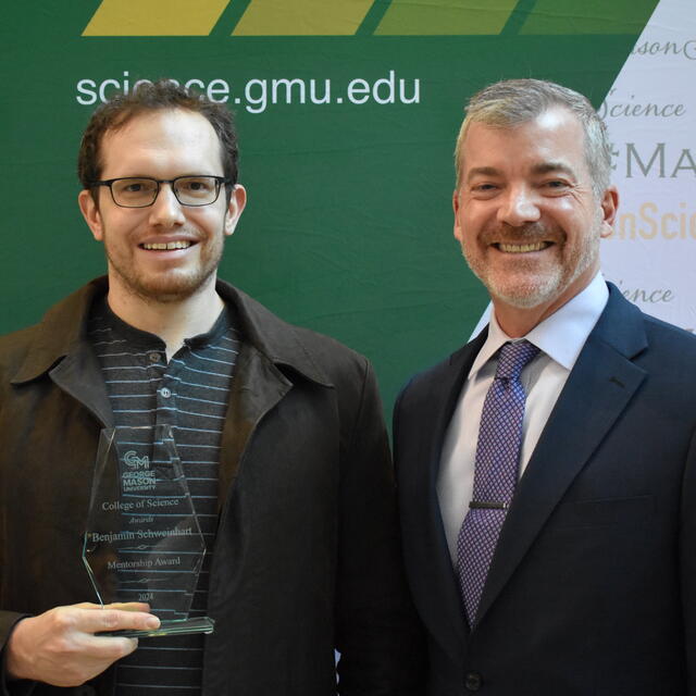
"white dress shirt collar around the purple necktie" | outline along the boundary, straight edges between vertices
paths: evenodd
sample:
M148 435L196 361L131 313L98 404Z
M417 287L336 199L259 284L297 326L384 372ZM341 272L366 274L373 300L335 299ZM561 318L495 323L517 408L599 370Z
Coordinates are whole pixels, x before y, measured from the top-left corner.
M573 369L575 360L577 360L577 356L585 345L589 332L592 332L604 311L608 299L609 290L607 284L601 273L597 273L584 290L575 295L550 316L547 316L524 338L570 371ZM471 366L469 380L474 378L502 344L508 340L518 339L510 338L500 328L495 311L492 311L488 337Z

